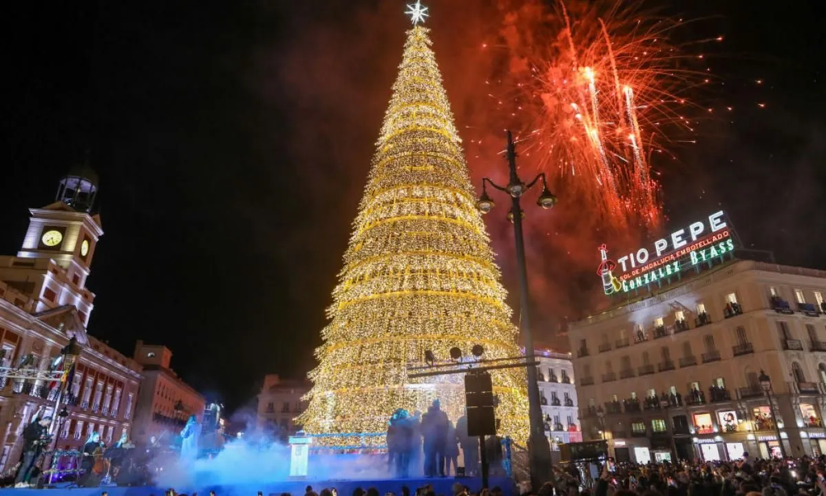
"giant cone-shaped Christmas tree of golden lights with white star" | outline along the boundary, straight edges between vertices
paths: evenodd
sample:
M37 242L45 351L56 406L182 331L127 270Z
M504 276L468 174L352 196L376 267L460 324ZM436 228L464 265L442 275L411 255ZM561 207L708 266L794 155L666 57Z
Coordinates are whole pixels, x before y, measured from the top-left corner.
M424 11L411 9L398 78L333 291L330 324L306 413L297 419L325 446L382 445L396 408L425 412L439 398L463 414L461 375L408 378L425 351L447 360L458 346L486 359L520 354L490 240L475 207ZM496 370L501 433L525 440L524 369Z

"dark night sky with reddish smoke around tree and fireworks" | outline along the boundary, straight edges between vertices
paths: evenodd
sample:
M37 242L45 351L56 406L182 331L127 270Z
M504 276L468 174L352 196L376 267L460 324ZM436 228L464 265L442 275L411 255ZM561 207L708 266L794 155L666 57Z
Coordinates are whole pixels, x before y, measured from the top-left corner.
M88 279L97 294L89 331L127 355L135 339L169 346L173 368L230 408L249 404L265 373L301 377L315 363L401 60L403 3L6 7L0 252L17 251L26 208L50 203L88 150L105 231ZM696 145L658 167L667 216L683 227L722 206L747 245L826 268L826 45L814 2L674 3L665 8L699 19L689 36L724 36L707 52L715 83L706 93L734 111L715 114ZM429 7L461 131L485 92L468 53L496 30L496 9L486 0ZM500 160L470 158L474 179ZM498 217L491 235L513 291L512 241ZM531 277L550 279L543 268L564 255L529 237ZM584 277L553 287L575 293L591 283ZM533 294L548 341L548 322L588 309L560 310L554 298Z

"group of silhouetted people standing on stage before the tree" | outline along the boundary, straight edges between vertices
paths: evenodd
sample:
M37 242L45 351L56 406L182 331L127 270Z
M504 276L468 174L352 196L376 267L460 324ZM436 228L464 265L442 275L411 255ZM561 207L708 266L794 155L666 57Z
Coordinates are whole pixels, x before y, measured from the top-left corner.
M454 426L438 399L424 415L399 408L387 425L387 460L396 477L457 475L460 447L464 475L478 475L479 440L468 435L468 417L459 417ZM499 475L503 454L498 437L489 436L485 454L493 475Z

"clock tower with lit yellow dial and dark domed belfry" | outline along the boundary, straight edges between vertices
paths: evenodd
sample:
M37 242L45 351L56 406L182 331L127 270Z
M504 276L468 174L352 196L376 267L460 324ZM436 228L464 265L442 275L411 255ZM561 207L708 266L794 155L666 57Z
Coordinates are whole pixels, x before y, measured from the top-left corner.
M16 257L0 257L0 279L35 302L32 312L74 306L83 327L93 308L86 289L90 266L103 235L93 213L97 174L81 165L60 179L55 202L30 208L29 227Z

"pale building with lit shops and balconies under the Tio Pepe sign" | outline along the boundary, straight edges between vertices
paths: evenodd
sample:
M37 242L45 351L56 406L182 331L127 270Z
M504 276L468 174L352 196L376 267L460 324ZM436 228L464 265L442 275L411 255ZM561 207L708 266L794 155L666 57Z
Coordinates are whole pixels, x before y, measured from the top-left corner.
M826 271L734 261L572 324L586 440L618 460L826 453L824 294Z

